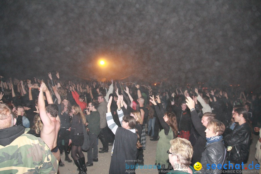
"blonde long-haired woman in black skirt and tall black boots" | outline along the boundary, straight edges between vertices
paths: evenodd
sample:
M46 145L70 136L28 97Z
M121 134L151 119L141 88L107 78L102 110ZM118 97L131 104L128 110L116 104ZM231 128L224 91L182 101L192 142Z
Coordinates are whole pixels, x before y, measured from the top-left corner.
M84 131L83 124L86 122L86 118L84 117L83 112L79 105L72 106L72 112L70 116L73 117L72 125L70 127L70 139L69 145L72 144L71 156L79 168L79 174L85 174L87 168L85 166L85 158L82 153L81 146L84 142ZM77 155L78 154L78 155Z

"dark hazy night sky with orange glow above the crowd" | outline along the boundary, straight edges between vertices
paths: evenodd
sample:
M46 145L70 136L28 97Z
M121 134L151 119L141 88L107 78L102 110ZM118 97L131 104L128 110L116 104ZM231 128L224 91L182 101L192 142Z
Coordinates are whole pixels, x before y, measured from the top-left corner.
M0 2L0 75L260 86L260 0ZM99 58L107 66L97 66Z

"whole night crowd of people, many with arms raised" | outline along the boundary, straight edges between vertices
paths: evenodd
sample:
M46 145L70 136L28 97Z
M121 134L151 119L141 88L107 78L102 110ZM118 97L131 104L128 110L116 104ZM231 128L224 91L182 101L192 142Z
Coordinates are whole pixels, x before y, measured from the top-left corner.
M126 166L144 165L146 141L157 141L158 173L192 174L196 162L205 173L225 173L224 164L242 168L251 143L261 162L261 138L252 142L261 127L260 91L46 77L0 76L0 173L59 173L66 161L83 174L102 153L112 154L110 174L135 173Z

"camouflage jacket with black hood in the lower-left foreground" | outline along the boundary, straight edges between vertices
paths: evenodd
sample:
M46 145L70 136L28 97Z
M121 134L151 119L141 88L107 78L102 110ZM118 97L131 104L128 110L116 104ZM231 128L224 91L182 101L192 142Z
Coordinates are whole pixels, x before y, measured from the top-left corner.
M0 130L0 173L57 173L58 161L50 148L27 134L29 130L22 126Z

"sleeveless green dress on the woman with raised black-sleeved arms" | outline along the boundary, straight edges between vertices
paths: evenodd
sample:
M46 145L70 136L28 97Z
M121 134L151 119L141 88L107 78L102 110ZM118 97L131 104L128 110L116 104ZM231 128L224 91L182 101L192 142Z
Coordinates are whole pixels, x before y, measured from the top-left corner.
M168 135L165 135L164 129L162 129L159 133L160 139L157 144L157 151L156 151L156 160L155 163L160 165L165 164L165 166L171 165L168 161L168 154L167 151L170 148L170 140L173 139L173 131L171 127L169 127Z

